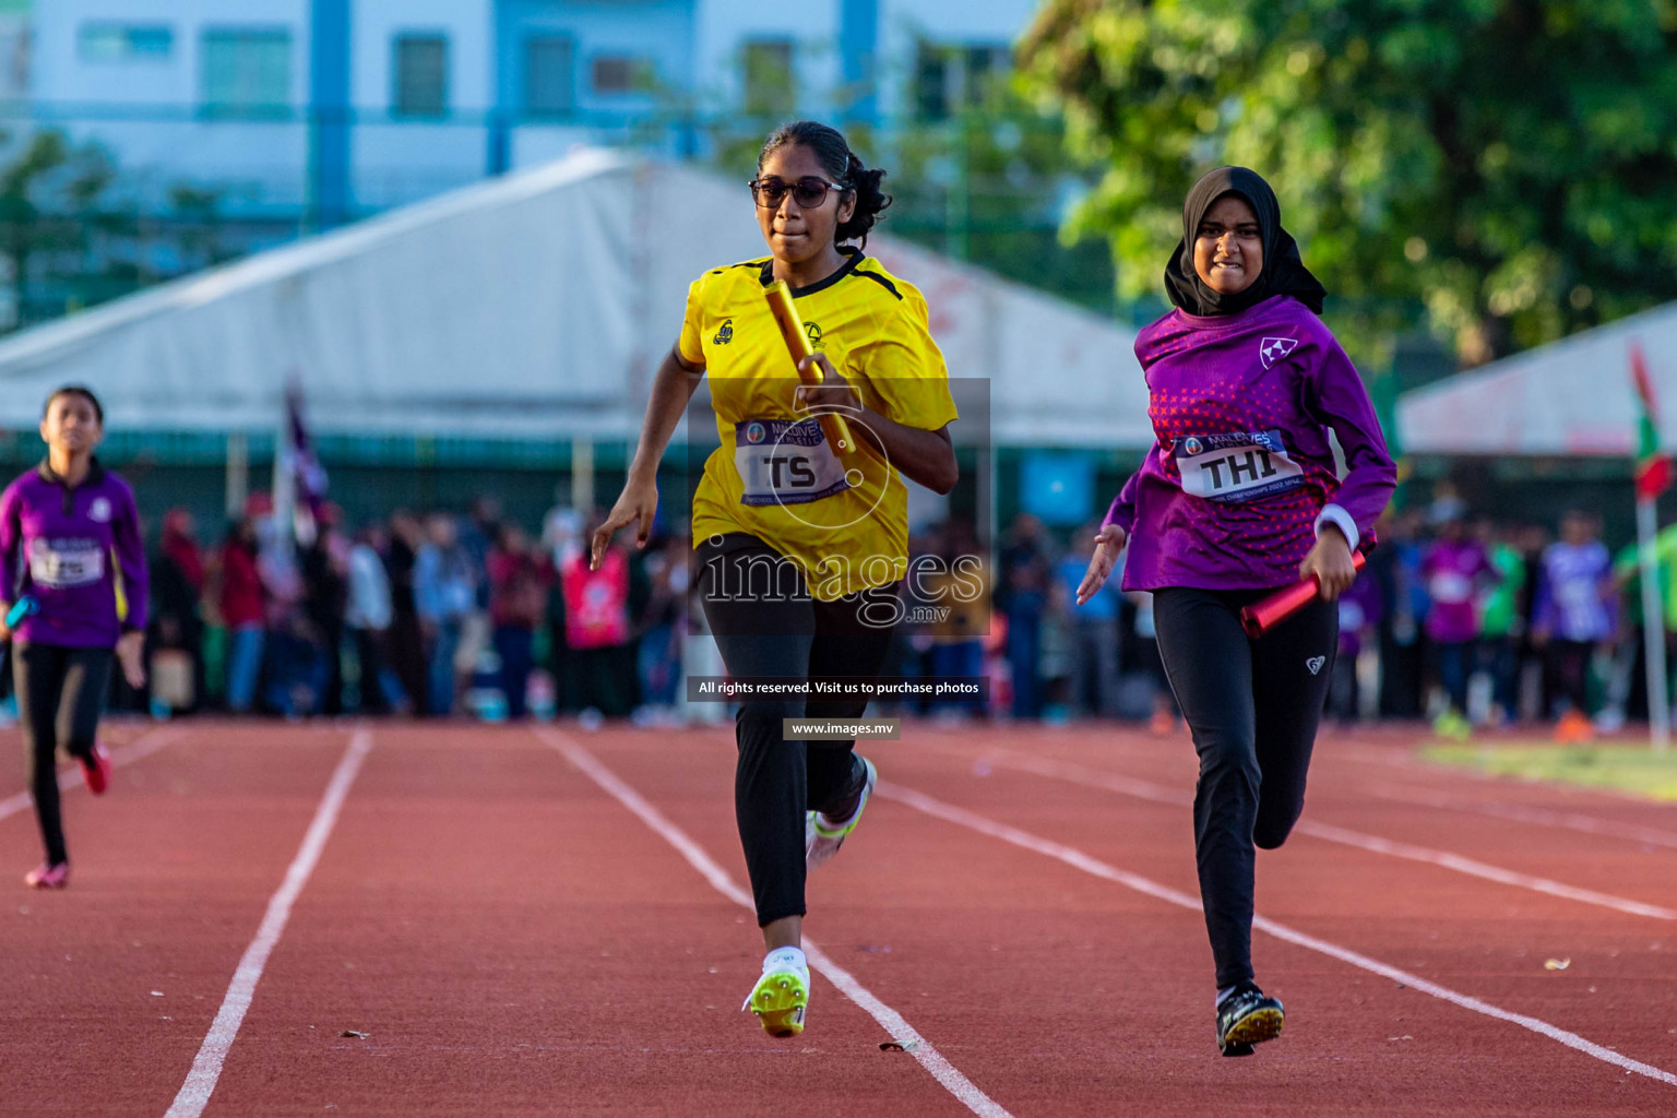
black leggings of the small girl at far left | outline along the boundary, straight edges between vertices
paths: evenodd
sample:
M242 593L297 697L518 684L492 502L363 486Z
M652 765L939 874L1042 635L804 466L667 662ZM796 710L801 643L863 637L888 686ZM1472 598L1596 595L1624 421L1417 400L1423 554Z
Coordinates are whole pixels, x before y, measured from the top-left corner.
M47 845L47 862L57 865L70 860L59 815L57 749L64 746L72 758L92 756L111 684L111 649L15 644L12 675L40 838Z

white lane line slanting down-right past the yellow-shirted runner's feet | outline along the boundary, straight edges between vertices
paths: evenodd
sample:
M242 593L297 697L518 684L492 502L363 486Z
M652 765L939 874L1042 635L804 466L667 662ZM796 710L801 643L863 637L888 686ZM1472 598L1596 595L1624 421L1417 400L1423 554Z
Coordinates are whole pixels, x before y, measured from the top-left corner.
M553 746L570 764L580 769L589 779L604 788L617 803L634 813L642 823L647 825L659 838L667 841L676 851L688 860L706 882L711 883L718 893L735 902L743 908L753 908L751 895L740 888L728 872L723 870L716 862L711 860L704 850L688 838L688 835L671 823L664 815L647 803L641 793L626 784L615 773L600 764L600 761L579 746L575 741L562 734L560 731L540 727L537 734L547 744ZM999 1103L984 1095L978 1086L973 1084L964 1074L961 1074L954 1064L944 1059L942 1053L932 1048L931 1041L921 1036L914 1026L902 1019L896 1009L879 1001L874 994L862 987L849 970L840 967L832 957L810 940L803 940L803 954L808 957L810 965L820 970L828 982L838 987L845 997L854 1001L857 1006L867 1011L874 1021L885 1029L885 1033L902 1044L902 1048L921 1063L926 1071L931 1073L937 1083L944 1086L949 1095L953 1095L963 1106L971 1110L974 1115L983 1115L983 1118L1013 1118Z

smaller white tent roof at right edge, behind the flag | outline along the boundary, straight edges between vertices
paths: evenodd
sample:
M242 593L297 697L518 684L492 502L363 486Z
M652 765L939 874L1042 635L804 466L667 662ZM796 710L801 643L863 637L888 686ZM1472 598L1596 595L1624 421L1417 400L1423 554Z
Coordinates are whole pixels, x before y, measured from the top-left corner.
M1402 448L1414 454L1633 454L1630 350L1637 344L1664 404L1660 441L1674 446L1677 303L1405 392L1397 404Z

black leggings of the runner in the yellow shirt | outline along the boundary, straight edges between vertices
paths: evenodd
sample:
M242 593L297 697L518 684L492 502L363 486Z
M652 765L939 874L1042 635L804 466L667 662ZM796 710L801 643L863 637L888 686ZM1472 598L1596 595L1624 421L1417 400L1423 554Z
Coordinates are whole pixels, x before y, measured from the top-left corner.
M798 568L756 536L699 543L704 619L728 665L743 675L872 677L890 647L897 583L818 602ZM746 701L735 717L740 763L735 818L758 925L803 915L803 816L854 786L854 741L787 741L781 719L854 719L867 701Z

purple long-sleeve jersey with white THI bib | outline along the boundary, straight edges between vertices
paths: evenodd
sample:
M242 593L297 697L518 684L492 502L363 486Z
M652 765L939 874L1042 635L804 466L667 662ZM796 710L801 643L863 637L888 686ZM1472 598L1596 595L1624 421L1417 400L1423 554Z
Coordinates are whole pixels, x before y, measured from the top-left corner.
M1234 315L1172 310L1135 357L1155 439L1107 513L1130 538L1125 590L1293 583L1323 523L1372 543L1397 468L1362 377L1308 307L1278 295Z

